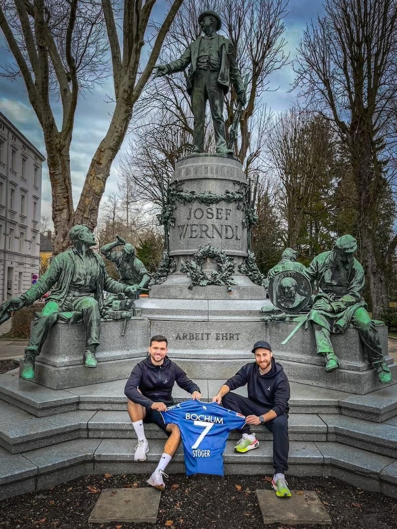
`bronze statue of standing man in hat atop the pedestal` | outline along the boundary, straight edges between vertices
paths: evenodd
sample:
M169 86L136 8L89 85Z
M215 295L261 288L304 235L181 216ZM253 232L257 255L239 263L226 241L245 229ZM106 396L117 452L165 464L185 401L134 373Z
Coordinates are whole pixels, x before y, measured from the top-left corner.
M236 88L242 105L246 104L246 92L236 65L233 44L216 33L221 29L221 17L214 11L204 11L198 17L198 23L204 36L193 41L179 59L157 66L156 76L182 71L191 65L186 88L192 98L194 116L193 152L204 150L205 104L208 100L214 124L216 152L228 154L233 151L227 148L225 140L223 96L229 90L230 81Z

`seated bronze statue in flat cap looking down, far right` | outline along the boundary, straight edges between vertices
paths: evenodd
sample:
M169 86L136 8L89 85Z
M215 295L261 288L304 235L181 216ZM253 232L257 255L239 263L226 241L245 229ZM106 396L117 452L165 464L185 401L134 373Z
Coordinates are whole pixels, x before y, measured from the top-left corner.
M368 362L376 369L378 380L389 384L392 374L383 357L376 325L366 310L362 296L364 269L354 257L356 250L356 239L351 235L342 235L331 251L320 253L306 269L309 279L313 283L317 280L320 287L308 314L306 328L311 322L317 354L324 357L325 369L329 373L339 367L331 333L345 332L353 323Z

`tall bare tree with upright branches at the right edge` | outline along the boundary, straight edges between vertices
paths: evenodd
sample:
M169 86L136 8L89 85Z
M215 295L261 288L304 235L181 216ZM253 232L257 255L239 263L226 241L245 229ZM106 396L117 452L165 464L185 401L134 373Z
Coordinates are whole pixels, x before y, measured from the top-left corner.
M395 135L397 4L395 0L327 0L325 12L304 32L296 86L332 120L348 146L363 261L373 314L378 317L387 303L384 262L390 261L397 244L395 236L382 255L375 241L378 199L390 177L385 171L386 147Z

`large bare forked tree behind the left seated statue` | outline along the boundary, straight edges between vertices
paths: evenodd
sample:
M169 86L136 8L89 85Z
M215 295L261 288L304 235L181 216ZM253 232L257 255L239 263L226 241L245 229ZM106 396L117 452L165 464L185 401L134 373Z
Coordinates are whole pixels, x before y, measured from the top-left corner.
M141 52L156 0L125 0L123 10L112 0L2 0L0 28L16 61L8 76L22 75L29 101L39 119L47 149L52 187L55 252L65 248L70 226L94 227L110 167L127 132L134 103L147 83L161 45L183 0L170 2L153 38L145 68ZM121 41L119 38L121 35ZM88 168L74 211L70 177L70 143L79 93L107 74L110 50L114 111L109 129ZM58 127L51 91L62 105Z

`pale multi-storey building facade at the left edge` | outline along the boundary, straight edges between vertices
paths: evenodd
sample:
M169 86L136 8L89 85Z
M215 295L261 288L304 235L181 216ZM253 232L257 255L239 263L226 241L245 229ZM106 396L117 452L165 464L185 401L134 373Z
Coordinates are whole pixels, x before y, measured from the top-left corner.
M39 274L44 156L0 112L0 303Z

